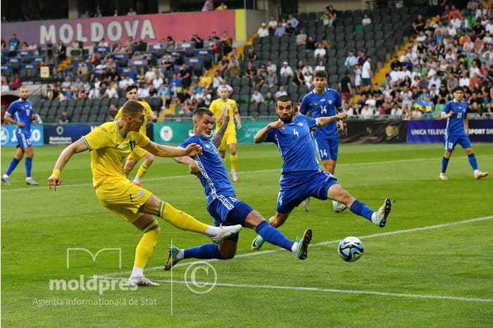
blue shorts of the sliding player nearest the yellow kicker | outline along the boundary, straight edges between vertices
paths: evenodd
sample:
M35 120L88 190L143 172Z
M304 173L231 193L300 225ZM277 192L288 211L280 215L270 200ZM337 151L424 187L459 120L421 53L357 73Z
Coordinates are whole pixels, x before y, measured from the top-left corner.
M207 204L208 213L214 218L214 227L223 225L242 225L244 227L246 216L254 210L247 203L232 196L219 196ZM238 241L239 234L227 238L227 240Z

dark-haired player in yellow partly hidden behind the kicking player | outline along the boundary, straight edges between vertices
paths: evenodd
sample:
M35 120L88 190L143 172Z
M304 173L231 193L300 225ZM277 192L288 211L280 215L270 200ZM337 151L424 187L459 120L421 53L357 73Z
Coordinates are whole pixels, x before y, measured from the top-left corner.
M137 85L135 84L130 84L127 89L125 89L127 92L127 99L128 100L135 100L137 101ZM157 122L158 118L156 115L154 115L154 112L151 109L151 106L149 106L149 103L146 103L145 101L139 101L139 103L146 108L146 115L144 117L144 124L142 127L140 127L140 132L142 134L146 134L146 127L147 127L147 122L151 120L152 122ZM115 120L118 120L119 118L122 117L122 108L118 110L118 113L115 116ZM125 163L125 175L129 175L130 172L132 172L135 164L139 162L140 158L144 157L144 163L142 163L139 166L139 170L137 171L137 175L135 175L135 178L132 180L133 184L137 184L137 186L141 186L141 179L144 177L144 175L147 172L147 169L149 166L151 166L152 162L154 161L154 155L149 153L149 151L146 151L145 149L142 149L141 147L136 147L128 156L127 158L127 163Z

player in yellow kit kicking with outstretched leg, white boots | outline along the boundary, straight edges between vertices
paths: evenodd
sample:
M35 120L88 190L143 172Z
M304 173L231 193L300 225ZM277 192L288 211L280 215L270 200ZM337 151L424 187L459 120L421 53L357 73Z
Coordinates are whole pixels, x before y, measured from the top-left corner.
M144 124L146 112L138 101L127 101L119 120L106 122L84 137L63 149L51 176L49 189L62 182L61 170L75 153L91 152L92 184L96 196L104 207L125 217L144 233L135 250L135 262L128 279L130 286L157 286L144 277L144 268L156 248L161 228L154 216L162 217L171 225L211 237L214 242L222 241L239 232L241 225L212 227L194 219L191 215L177 210L170 203L154 196L151 191L128 181L123 166L128 154L136 147L142 147L160 157L194 156L202 153L201 146L190 144L186 149L156 144L139 132Z

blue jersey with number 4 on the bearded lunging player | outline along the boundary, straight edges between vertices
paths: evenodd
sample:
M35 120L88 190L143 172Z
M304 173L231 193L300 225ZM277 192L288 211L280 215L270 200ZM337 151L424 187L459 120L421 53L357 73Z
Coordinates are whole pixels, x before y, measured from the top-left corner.
M304 115L294 116L293 122L282 129L270 129L262 142L273 142L282 157L282 173L299 171L318 171L315 146L310 131L317 126L314 118Z

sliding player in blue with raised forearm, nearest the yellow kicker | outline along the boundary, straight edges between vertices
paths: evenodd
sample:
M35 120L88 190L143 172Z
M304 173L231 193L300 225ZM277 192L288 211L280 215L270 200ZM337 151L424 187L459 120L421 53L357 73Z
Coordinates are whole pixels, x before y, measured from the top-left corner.
M306 229L301 239L290 241L282 232L268 224L260 213L248 204L236 198L227 170L218 151L225 133L227 122L230 120L227 108L223 108L223 125L212 135L213 113L208 108L197 108L194 111L194 135L185 140L180 147L196 143L202 147L202 153L193 157L173 158L177 163L189 166L189 172L199 177L204 186L207 198L208 213L214 218L214 225L242 225L255 229L263 240L285 248L294 253L297 258L304 260L307 256L308 244L311 241L311 229ZM204 244L194 248L180 249L171 246L164 270L170 270L180 260L185 258L218 258L227 260L236 254L238 235L223 240L220 244Z

